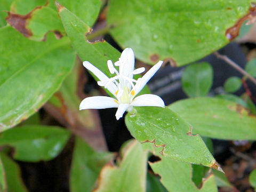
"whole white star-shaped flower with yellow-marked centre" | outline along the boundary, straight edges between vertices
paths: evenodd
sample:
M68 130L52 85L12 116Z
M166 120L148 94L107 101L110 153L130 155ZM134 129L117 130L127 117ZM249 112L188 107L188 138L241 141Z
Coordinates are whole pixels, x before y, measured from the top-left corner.
M145 68L141 67L134 70L134 62L132 49L126 48L119 60L115 62L115 66L119 66L119 72L113 66L113 62L108 60L107 64L110 73L116 74L116 76L109 78L89 61L84 61L83 66L99 78L98 85L105 86L116 99L106 96L88 97L81 102L80 110L117 108L116 119L118 120L126 110L131 111L133 106L165 107L164 101L154 94L143 94L134 98L162 66L163 61L158 61L156 65L148 70L143 77L138 78L138 80L133 79L133 75L142 73L145 71Z

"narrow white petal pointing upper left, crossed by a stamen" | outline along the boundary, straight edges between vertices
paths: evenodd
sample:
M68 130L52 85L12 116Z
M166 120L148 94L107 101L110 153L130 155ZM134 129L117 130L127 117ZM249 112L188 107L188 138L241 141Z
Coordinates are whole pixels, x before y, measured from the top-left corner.
M83 66L86 69L90 70L96 77L98 77L100 79L100 81L108 81L109 80L107 75L105 75L100 69L98 69L97 67L92 65L92 63L90 63L89 61L84 61ZM117 86L115 85L115 83L113 83L113 82L109 83L108 90L113 95L115 95L115 92L117 91Z

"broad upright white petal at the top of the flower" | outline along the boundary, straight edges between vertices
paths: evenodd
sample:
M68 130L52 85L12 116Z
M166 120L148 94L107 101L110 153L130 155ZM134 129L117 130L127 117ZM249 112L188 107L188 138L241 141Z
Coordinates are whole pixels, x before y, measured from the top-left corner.
M120 75L133 78L132 71L134 70L134 53L131 48L126 48L120 57L121 65L119 66ZM121 73L122 72L122 73Z

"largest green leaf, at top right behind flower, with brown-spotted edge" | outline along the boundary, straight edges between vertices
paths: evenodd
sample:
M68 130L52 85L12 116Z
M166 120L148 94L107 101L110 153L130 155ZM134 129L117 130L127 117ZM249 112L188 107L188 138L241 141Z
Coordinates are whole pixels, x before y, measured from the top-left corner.
M181 66L226 45L226 30L247 13L251 1L111 0L107 21L116 41L132 47L138 59Z

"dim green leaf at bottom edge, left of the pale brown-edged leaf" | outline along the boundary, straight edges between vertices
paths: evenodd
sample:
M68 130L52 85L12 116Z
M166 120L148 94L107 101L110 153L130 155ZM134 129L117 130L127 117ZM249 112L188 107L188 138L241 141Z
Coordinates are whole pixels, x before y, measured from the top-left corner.
M76 137L71 165L70 190L74 192L92 191L102 167L113 158L107 152L97 153L82 139Z

